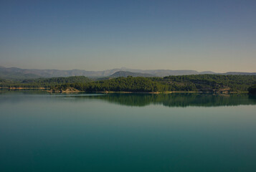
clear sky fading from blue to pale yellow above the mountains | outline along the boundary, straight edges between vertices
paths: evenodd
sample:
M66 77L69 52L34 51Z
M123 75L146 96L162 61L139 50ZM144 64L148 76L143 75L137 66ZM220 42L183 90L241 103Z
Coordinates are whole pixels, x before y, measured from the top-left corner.
M256 1L0 0L0 66L256 72Z

